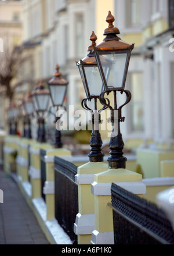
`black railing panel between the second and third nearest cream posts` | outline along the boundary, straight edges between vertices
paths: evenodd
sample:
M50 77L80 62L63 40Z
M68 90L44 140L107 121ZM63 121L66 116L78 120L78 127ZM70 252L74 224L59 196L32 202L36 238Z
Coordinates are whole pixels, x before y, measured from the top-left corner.
M78 214L77 166L55 157L55 218L73 244L77 244L74 223Z

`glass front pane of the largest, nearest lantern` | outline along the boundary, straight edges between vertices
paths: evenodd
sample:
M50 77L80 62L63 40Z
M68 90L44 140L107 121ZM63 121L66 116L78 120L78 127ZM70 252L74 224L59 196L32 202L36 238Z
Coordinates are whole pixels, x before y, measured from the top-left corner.
M108 88L121 88L124 86L124 74L128 54L100 55L104 76Z

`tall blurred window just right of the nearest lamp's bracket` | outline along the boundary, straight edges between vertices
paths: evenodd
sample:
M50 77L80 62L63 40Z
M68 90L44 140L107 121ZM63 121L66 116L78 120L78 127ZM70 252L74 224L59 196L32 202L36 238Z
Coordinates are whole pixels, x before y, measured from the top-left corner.
M128 75L129 88L132 94L129 103L130 130L140 132L144 130L143 120L143 74L131 73Z

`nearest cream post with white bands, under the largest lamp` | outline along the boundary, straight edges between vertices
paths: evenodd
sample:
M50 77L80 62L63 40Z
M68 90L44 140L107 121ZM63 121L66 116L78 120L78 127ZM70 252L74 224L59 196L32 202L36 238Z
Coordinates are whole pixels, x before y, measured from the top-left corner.
M127 169L109 169L96 174L91 185L95 197L95 230L91 244L114 244L113 210L108 205L111 202L112 182L134 194L146 193L142 175L138 173Z

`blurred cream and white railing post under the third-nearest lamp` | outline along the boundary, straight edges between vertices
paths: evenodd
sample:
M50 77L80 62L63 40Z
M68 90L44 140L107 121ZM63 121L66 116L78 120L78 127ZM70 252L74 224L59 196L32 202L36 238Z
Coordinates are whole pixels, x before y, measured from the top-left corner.
M53 148L46 150L45 163L46 163L46 182L44 185L44 194L46 201L46 219L50 220L55 218L55 170L54 159L55 157L70 157L71 151L65 148Z

